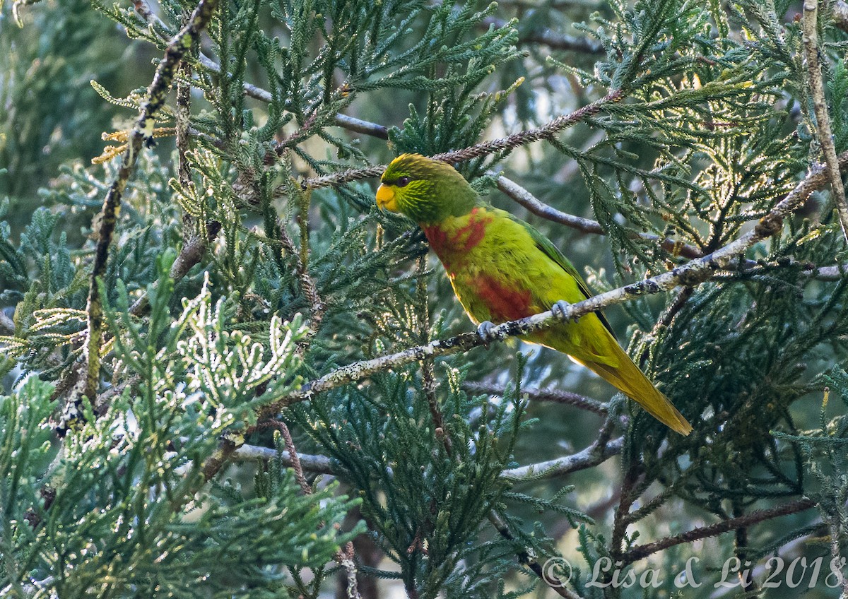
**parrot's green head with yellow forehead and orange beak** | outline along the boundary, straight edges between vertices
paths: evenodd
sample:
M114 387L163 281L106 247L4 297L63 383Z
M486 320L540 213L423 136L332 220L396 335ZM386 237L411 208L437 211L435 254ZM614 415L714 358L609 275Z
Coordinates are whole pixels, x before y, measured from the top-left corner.
M468 214L477 203L477 192L454 167L421 154L401 154L380 181L377 206L416 223Z

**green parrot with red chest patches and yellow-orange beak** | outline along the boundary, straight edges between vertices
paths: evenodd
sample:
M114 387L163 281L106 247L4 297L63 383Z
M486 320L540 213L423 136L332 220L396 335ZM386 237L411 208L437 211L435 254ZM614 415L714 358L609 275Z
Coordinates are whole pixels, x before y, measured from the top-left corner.
M404 214L424 231L448 273L456 297L483 340L493 323L553 310L591 294L586 283L545 236L477 195L452 166L420 154L388 165L377 190L379 208ZM639 402L682 435L692 426L618 346L600 313L555 324L526 336L566 353Z

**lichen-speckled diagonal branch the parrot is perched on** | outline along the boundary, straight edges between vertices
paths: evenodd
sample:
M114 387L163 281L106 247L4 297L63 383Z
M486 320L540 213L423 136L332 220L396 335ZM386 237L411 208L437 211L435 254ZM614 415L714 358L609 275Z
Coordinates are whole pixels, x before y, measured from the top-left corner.
M848 153L840 155L840 166L848 164ZM628 302L636 297L669 291L676 286L696 286L711 278L718 270L727 269L728 265L738 259L746 250L757 242L773 236L783 226L783 219L792 214L810 196L812 191L819 189L827 181L827 169L823 166L813 167L804 180L789 191L783 200L757 222L751 230L739 239L717 249L702 258L682 264L661 275L631 283L600 295L589 297L572 304L564 311L564 319L572 320L596 312L602 308ZM491 340L502 341L507 337L527 335L536 330L550 327L560 322L550 311L534 314L525 319L512 320L499 324L490 331ZM427 358L438 358L458 352L466 352L472 347L483 345L483 340L477 333L462 333L444 340L431 341L424 346L409 347L401 352L380 358L372 358L343 366L320 379L312 380L303 385L298 391L277 397L259 414L268 418L282 408L296 402L303 402L317 393L329 391L341 385L363 380L387 369L398 368L412 362L420 362Z

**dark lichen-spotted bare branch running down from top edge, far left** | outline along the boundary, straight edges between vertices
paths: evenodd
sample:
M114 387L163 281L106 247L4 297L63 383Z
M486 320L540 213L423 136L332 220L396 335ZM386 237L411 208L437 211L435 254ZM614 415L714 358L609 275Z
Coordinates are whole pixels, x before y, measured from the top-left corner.
M103 304L100 299L99 280L106 272L106 262L109 258L109 246L112 243L117 214L120 208L121 197L126 188L127 181L136 169L138 156L142 151L144 141L152 134L156 125L156 114L165 104L165 97L170 90L171 81L174 80L176 69L179 67L182 57L187 53L200 36L200 31L209 23L217 0L200 0L194 9L187 24L172 39L165 51L165 57L159 62L153 81L148 87L144 103L142 103L141 114L136 124L133 125L127 149L121 159L118 174L115 176L106 197L103 199L103 208L100 212L100 230L98 233L97 248L94 253L92 275L88 288L88 303L86 313L88 314L88 339L85 347L86 376L83 379L81 394L88 397L92 404L95 402L100 379L100 341L103 338Z

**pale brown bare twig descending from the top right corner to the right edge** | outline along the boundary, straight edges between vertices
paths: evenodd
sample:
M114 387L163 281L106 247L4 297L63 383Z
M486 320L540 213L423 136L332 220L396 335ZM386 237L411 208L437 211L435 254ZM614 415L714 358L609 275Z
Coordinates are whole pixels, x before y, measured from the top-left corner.
M804 35L804 56L806 57L806 73L809 77L810 93L812 94L812 107L816 113L817 139L822 147L824 162L828 165L828 180L830 190L834 194L836 212L840 217L842 234L848 241L848 203L845 202L845 186L842 185L842 175L837 166L839 160L836 157L833 133L830 130L830 115L828 105L824 98L824 82L822 80L822 67L818 62L818 0L804 0L804 10L801 16L801 28Z

